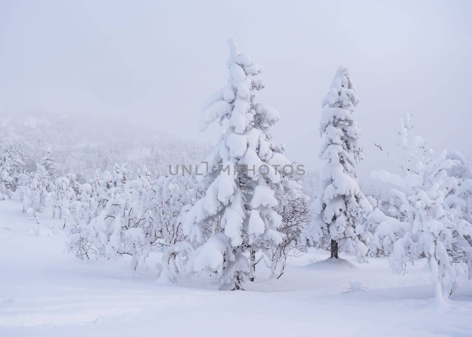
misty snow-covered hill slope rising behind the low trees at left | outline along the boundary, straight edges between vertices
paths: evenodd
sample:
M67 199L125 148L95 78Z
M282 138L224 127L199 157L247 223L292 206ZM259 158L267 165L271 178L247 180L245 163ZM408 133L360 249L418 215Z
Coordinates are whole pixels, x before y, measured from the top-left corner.
M144 164L153 173L167 173L169 164L200 163L211 148L156 131L152 125L103 116L2 111L0 130L0 144L23 143L31 170L52 150L58 173L74 172L81 181L90 180L96 169L111 171L115 163L125 162L131 171Z

